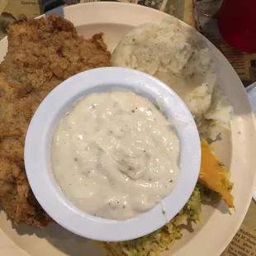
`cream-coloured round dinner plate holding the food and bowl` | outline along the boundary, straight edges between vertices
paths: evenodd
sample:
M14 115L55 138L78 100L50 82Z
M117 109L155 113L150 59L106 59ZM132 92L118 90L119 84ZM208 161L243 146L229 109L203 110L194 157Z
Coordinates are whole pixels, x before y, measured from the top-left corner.
M167 14L139 5L97 2L85 3L64 9L65 17L73 21L78 33L92 36L103 31L109 50L113 50L121 37L134 26L145 22L161 21ZM196 31L195 31L196 32ZM206 39L205 39L206 40ZM254 115L247 94L235 70L208 40L207 45L215 56L218 82L235 107L232 131L223 134L223 139L214 146L216 154L231 170L231 180L235 183L236 211L230 215L223 202L216 208L203 208L203 221L195 225L193 232L185 230L183 239L172 250L163 255L175 256L216 256L221 254L244 220L251 201L256 166L256 134ZM0 60L7 51L7 39L0 42ZM26 225L17 229L2 212L0 216L0 253L4 256L100 256L91 241L72 235L68 231L51 224L44 230Z

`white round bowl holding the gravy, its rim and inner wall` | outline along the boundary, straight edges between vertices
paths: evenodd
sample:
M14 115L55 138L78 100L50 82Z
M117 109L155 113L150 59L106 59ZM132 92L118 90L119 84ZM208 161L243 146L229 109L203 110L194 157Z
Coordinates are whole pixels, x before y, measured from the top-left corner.
M116 88L140 93L160 105L164 114L173 121L180 140L179 177L173 192L152 210L129 220L102 219L73 206L55 182L50 164L52 136L64 113L89 93ZM201 147L190 111L171 88L159 79L133 69L101 68L78 73L45 97L27 130L24 158L31 189L53 220L89 239L122 241L159 229L183 208L197 183Z

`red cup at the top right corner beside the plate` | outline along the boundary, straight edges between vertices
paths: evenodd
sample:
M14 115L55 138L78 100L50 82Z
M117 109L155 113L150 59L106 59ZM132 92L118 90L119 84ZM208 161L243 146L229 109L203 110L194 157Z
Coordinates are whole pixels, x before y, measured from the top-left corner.
M218 26L229 45L256 53L256 0L224 0Z

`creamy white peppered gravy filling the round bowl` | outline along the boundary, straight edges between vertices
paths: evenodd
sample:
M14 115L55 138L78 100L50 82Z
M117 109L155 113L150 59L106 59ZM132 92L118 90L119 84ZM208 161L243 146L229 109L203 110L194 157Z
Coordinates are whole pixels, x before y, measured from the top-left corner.
M51 147L64 195L92 216L149 211L178 180L179 140L153 103L133 92L93 93L59 121Z

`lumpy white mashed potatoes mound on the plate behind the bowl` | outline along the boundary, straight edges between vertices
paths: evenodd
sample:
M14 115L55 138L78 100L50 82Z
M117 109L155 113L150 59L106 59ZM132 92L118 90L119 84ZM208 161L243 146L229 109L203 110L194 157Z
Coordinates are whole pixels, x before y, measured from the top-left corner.
M111 63L167 83L187 104L201 136L216 140L223 128L229 129L233 108L216 87L210 50L198 37L174 17L146 23L121 40Z

